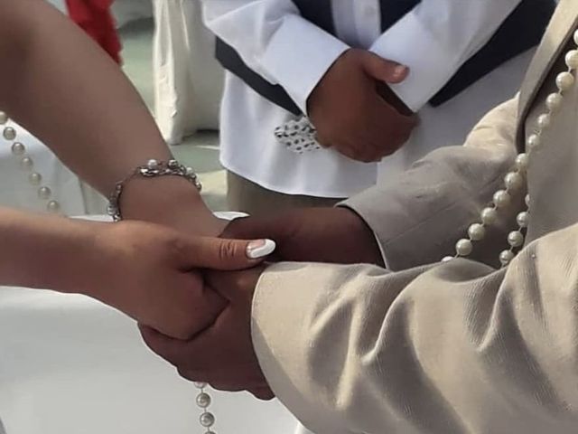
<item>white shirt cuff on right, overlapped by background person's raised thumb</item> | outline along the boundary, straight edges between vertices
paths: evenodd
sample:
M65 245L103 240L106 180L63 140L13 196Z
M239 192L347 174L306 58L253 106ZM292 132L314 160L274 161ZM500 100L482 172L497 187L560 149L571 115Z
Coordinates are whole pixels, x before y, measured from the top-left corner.
M461 66L462 53L437 41L413 13L384 33L370 51L410 68L405 81L390 87L414 112L442 90Z

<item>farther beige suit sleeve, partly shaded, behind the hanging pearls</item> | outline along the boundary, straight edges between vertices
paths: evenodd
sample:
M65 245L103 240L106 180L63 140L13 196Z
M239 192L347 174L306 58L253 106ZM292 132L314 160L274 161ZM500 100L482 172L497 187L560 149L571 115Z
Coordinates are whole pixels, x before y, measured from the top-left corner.
M516 125L517 98L482 118L464 146L433 151L395 184L370 188L340 206L357 212L376 233L387 269L409 269L452 256L455 242L466 236L471 223L480 221L480 211L503 188L504 175L517 156ZM488 229L474 258L497 260L488 246L505 239L520 200Z

